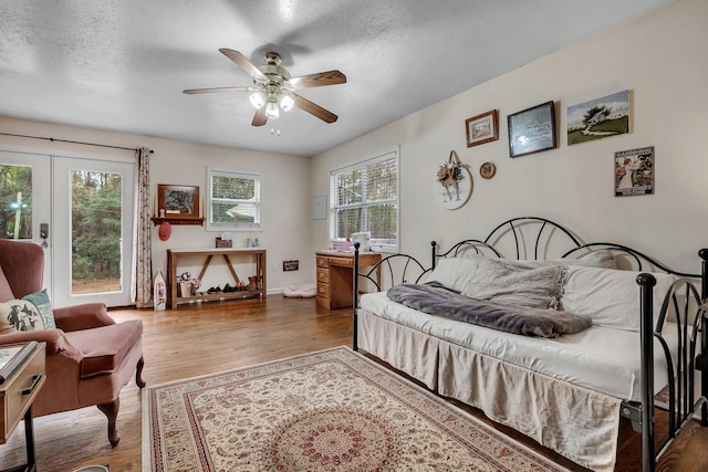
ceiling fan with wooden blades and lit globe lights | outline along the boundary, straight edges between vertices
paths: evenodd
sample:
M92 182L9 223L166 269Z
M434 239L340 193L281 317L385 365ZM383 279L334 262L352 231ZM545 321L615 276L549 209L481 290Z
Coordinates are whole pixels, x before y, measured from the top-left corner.
M324 109L294 92L301 88L344 84L346 83L346 75L340 71L327 71L291 77L290 72L280 66L280 55L275 52L266 53L263 55L266 64L259 67L238 51L222 48L219 52L253 77L253 86L187 88L184 93L191 95L212 92L251 92L249 98L251 105L256 108L256 115L253 115L253 120L251 122L253 126L263 126L269 118L278 118L280 116L280 109L288 112L293 106L316 116L323 122L336 122L337 116L334 113Z

